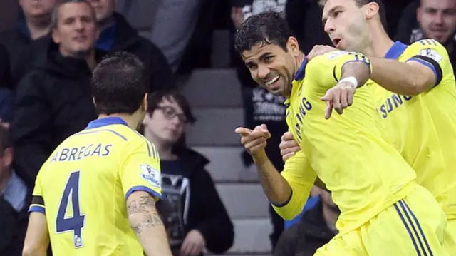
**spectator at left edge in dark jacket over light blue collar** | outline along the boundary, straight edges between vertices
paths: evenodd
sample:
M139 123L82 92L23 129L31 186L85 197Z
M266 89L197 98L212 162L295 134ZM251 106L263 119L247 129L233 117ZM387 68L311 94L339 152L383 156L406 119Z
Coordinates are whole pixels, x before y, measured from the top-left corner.
M19 256L26 235L29 190L12 168L8 130L0 126L0 255Z

